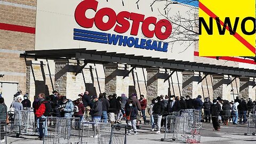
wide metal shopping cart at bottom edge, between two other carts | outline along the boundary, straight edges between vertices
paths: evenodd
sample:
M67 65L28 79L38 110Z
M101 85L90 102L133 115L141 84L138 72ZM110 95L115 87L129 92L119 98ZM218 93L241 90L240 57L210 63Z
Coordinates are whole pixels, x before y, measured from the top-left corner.
M83 122L82 142L85 144L109 144L110 123Z

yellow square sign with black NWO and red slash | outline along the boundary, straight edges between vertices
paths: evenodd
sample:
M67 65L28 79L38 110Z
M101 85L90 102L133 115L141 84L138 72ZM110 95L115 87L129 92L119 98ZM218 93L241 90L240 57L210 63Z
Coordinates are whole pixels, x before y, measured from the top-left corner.
M255 57L255 0L200 0L199 56Z

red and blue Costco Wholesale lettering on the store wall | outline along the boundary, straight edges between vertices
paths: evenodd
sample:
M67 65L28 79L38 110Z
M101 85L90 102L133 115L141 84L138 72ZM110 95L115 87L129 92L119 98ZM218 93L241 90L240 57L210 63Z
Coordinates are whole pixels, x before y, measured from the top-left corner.
M165 40L172 33L172 25L169 20L157 20L156 17L145 17L143 14L127 11L116 13L110 7L103 7L98 10L98 3L95 0L85 0L77 5L75 20L79 26L86 29L74 28L75 40L167 52L168 43L135 36L138 35L138 31L141 29L142 34L147 38L156 36L159 40ZM86 11L88 10L95 12L94 17L86 17ZM108 20L104 21L104 17L108 17ZM93 25L99 31L90 30ZM150 25L154 25L153 30L149 29ZM104 32L113 28L118 34ZM127 33L129 29L131 29L129 33L132 36L119 35Z

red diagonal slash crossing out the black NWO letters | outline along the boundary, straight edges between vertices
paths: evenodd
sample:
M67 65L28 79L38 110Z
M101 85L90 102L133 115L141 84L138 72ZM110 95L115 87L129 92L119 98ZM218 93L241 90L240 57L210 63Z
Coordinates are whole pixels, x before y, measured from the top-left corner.
M206 14L208 14L210 17L216 20L217 15L215 15L211 10L209 10L204 4L199 2L199 8L203 10ZM220 20L220 25L224 25L224 23ZM228 27L226 27L227 30ZM243 45L245 45L251 52L255 54L255 47L251 45L249 42L247 42L241 35L235 33L233 35L239 42L241 42Z

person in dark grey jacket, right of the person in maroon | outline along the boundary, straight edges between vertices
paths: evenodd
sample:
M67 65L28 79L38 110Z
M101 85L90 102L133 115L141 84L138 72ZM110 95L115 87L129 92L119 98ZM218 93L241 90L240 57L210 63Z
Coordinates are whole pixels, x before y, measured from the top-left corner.
M94 102L92 109L90 109L92 121L94 123L99 123L101 122L101 115L102 115L102 101L98 99L97 95L92 96L92 101Z

